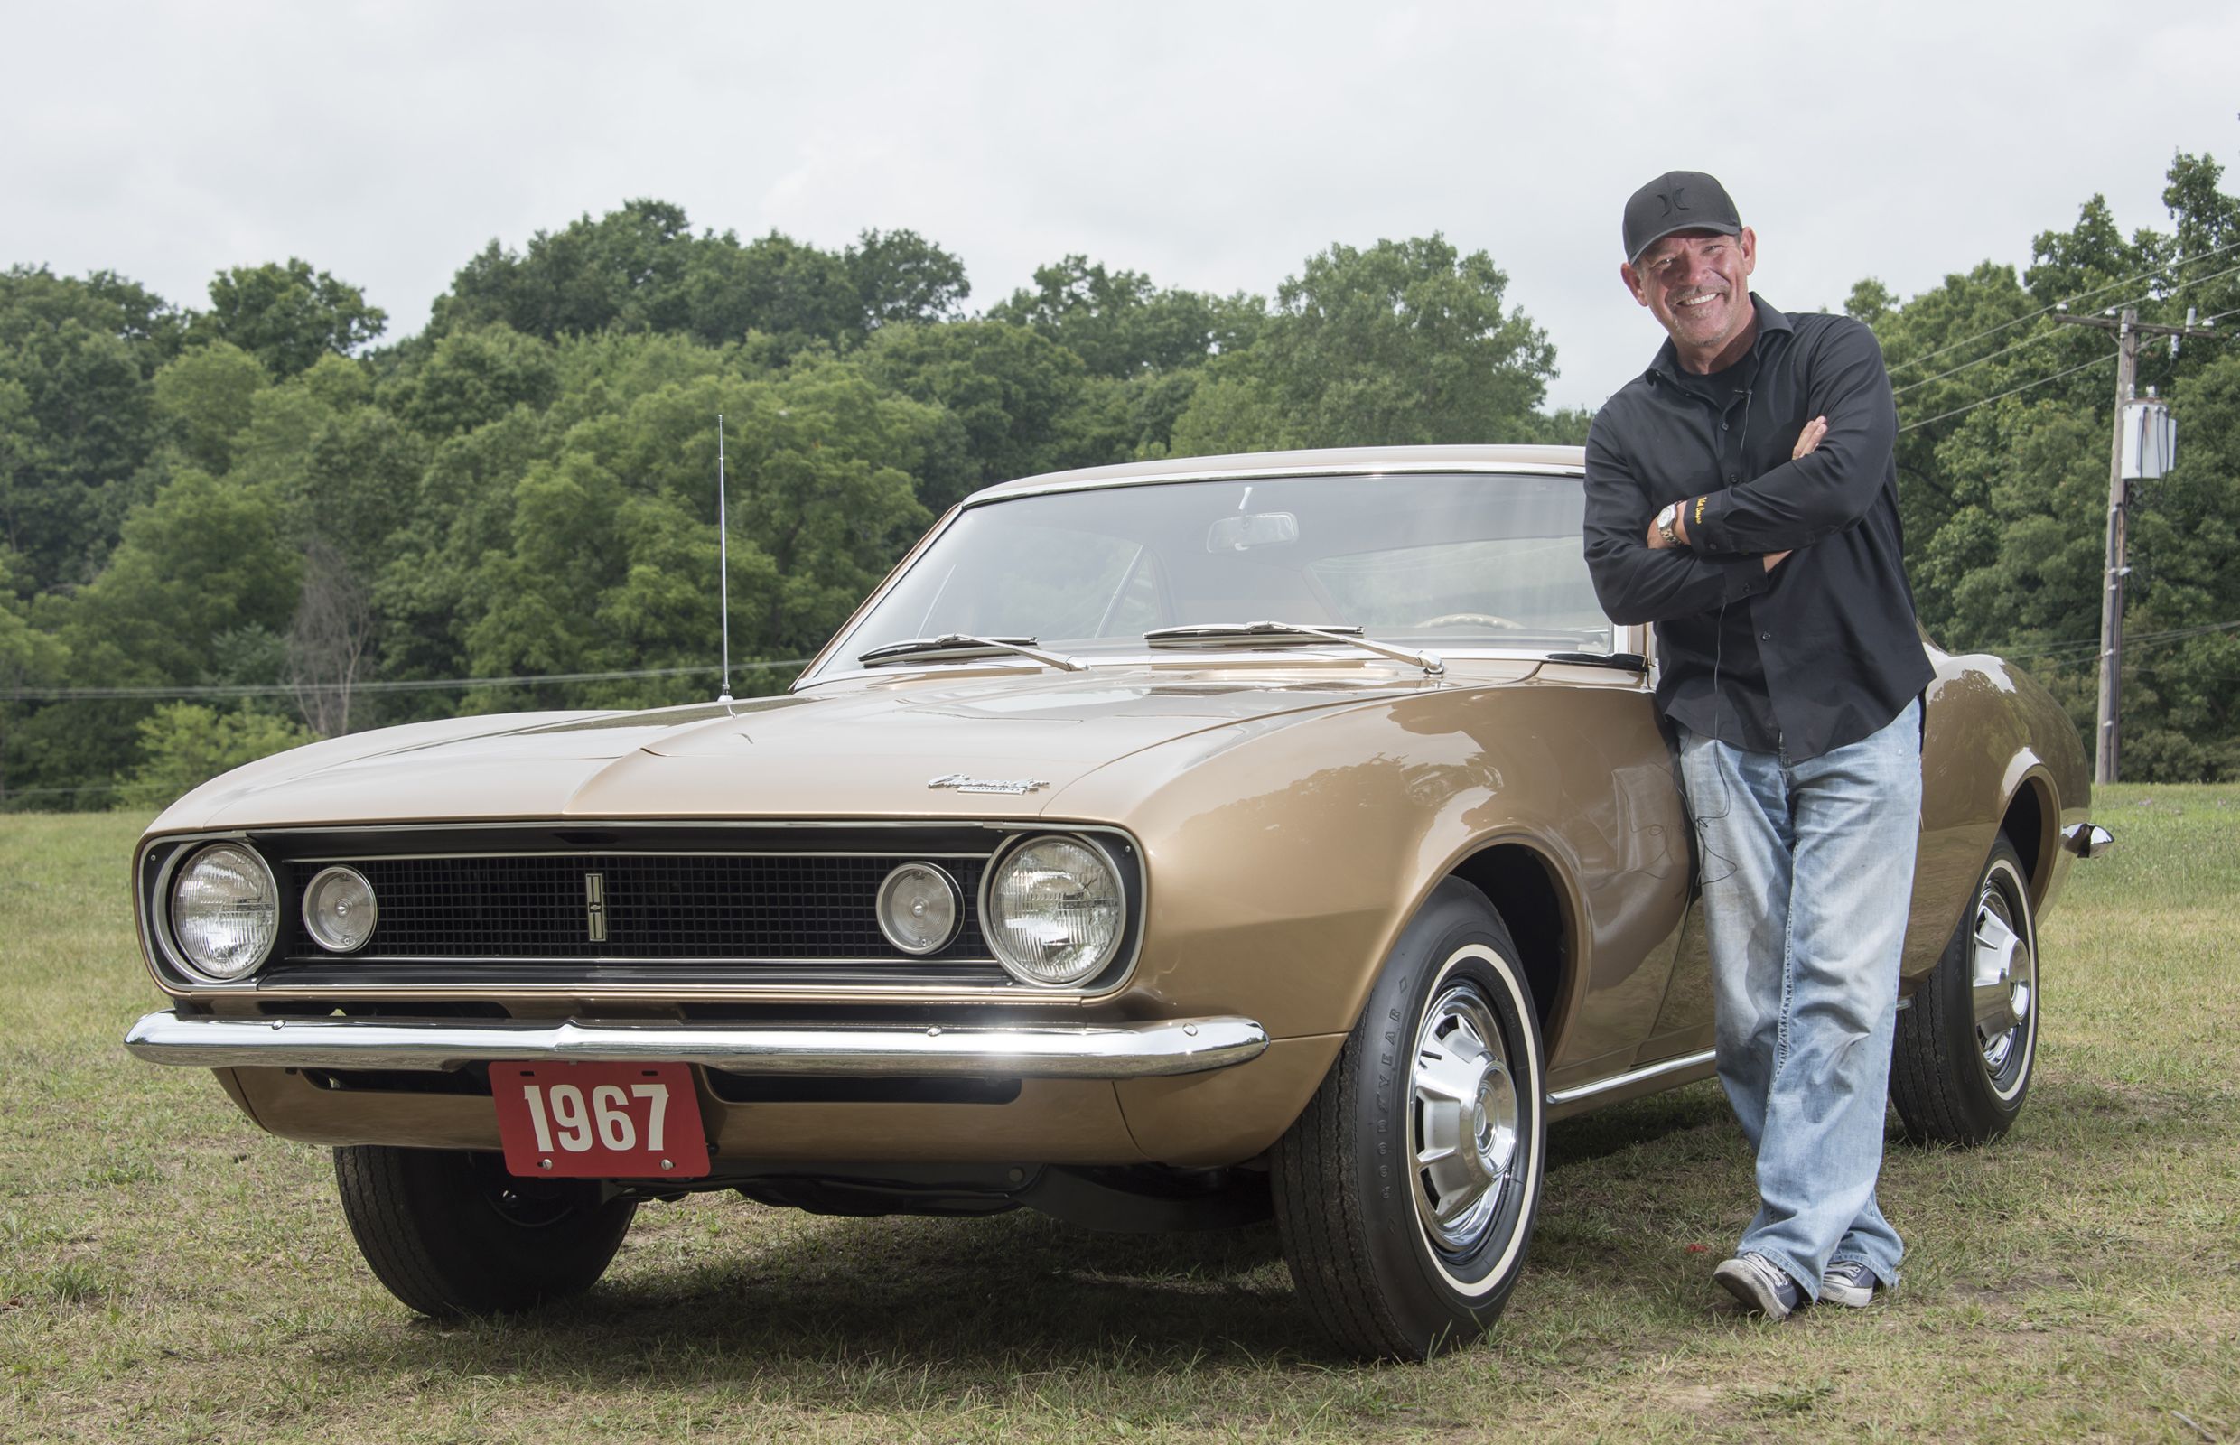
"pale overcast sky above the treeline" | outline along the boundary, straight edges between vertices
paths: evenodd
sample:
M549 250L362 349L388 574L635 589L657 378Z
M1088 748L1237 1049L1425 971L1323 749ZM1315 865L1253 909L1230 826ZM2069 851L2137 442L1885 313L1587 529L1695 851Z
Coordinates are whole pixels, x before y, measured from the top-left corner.
M206 305L302 255L417 332L488 240L627 197L842 246L914 229L972 305L1082 251L1272 293L1331 242L1490 251L1595 405L1655 323L1626 193L1711 170L1758 291L2023 264L2101 193L2164 226L2240 159L2240 4L54 4L0 0L0 264ZM2227 190L2236 177L2227 179Z

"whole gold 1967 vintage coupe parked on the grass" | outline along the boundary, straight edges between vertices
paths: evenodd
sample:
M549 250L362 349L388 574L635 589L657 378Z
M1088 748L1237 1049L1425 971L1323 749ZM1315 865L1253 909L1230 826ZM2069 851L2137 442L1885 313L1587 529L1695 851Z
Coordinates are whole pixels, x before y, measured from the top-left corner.
M1546 1129L1711 1073L1693 831L1577 448L1028 477L784 697L269 757L141 840L128 1048L334 1145L432 1315L589 1288L641 1201L1093 1228L1272 1208L1344 1346L1516 1281ZM2076 730L1933 652L1893 1096L2000 1134ZM1893 907L1897 901L1891 901Z

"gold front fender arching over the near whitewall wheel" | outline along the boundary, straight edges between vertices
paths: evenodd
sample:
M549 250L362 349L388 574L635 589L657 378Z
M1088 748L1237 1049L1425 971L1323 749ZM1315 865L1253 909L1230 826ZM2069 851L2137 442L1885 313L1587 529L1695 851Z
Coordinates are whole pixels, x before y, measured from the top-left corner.
M1635 1046L1687 905L1684 813L1649 692L1575 672L1593 677L1241 724L1053 798L1048 818L1118 822L1145 849L1131 1004L1234 1008L1277 1040L1342 1035L1431 889L1516 842L1568 914L1552 1064Z

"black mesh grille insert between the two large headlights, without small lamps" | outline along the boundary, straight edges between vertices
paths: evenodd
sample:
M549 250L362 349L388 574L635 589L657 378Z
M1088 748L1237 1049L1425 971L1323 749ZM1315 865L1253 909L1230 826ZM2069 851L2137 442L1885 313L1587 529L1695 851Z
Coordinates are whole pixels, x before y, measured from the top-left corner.
M327 858L289 863L293 898ZM974 923L986 858L930 858L956 878L965 923L936 954L912 959L878 932L878 885L894 856L497 854L479 858L347 858L379 901L356 959L643 959L818 961L986 959ZM591 907L591 878L600 907ZM598 923L594 923L594 912ZM287 952L338 961L291 910ZM605 939L596 939L598 927Z

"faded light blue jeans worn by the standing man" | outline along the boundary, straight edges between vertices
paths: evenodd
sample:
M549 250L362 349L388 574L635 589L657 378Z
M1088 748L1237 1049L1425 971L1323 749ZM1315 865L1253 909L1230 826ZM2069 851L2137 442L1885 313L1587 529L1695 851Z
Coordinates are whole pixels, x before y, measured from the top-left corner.
M1891 1281L1904 1255L1875 1176L1922 818L1920 728L1913 701L1810 762L1680 728L1718 1078L1758 1152L1758 1214L1740 1250L1812 1297L1830 1264L1859 1259Z

